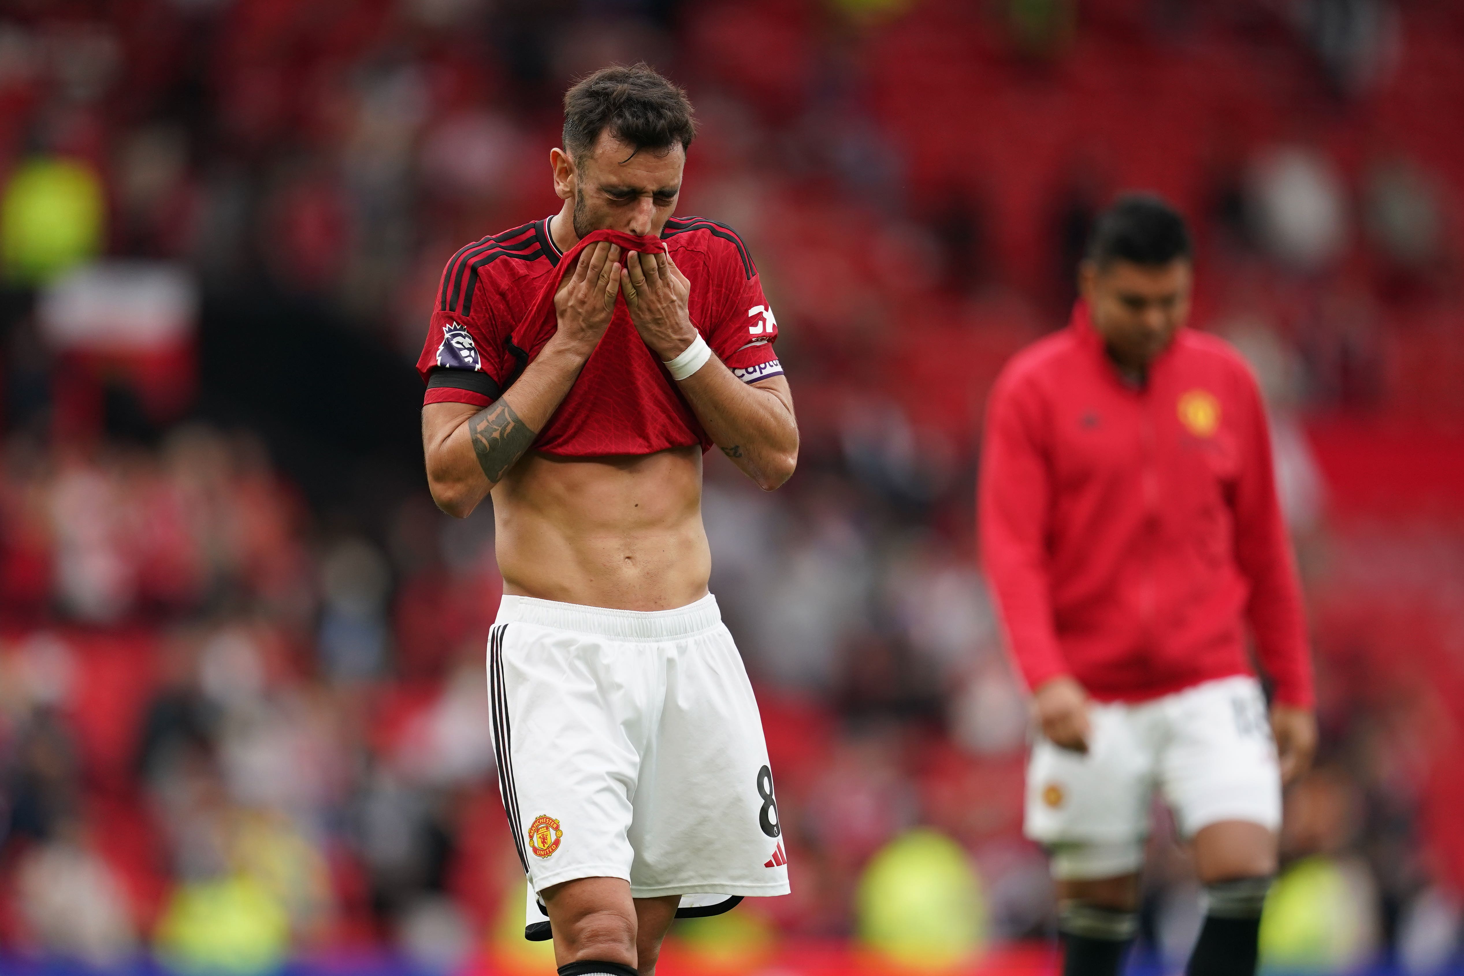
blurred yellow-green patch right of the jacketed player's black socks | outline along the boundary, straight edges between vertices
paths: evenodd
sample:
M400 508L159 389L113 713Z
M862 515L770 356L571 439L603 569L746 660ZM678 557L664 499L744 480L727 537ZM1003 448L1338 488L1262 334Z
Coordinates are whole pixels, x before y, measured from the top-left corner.
M1306 857L1277 879L1261 919L1261 967L1341 973L1366 961L1370 906L1329 857Z

